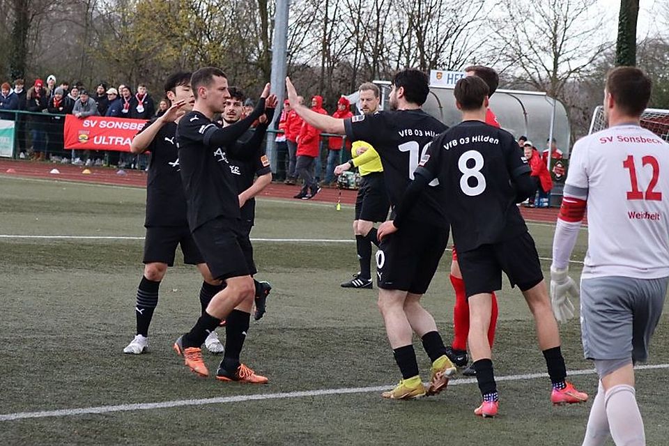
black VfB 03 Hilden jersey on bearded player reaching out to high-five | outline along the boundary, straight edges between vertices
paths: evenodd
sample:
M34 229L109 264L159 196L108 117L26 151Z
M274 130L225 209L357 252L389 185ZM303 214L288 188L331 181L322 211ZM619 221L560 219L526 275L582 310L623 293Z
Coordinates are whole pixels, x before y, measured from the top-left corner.
M344 121L344 127L351 141L367 141L378 152L393 206L399 204L406 187L413 180L418 162L430 142L448 128L421 109L353 116ZM441 185L436 181L430 183L407 218L448 226L444 203L445 194Z

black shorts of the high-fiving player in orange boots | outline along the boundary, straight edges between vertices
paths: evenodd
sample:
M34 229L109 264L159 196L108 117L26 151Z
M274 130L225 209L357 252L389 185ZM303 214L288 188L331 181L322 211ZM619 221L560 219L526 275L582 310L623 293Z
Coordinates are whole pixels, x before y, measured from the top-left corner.
M217 217L195 229L193 238L214 279L225 280L251 274L239 244L239 220Z

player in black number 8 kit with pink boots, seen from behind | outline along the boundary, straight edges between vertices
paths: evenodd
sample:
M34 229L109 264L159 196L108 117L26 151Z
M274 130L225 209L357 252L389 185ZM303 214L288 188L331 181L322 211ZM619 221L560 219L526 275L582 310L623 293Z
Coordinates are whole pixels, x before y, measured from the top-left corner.
M422 155L415 180L401 199L394 222L379 236L404 231L415 201L438 180L458 247L470 307L469 344L483 396L475 415L494 417L499 400L488 328L491 293L502 286L502 271L518 285L535 318L539 347L551 378L553 404L580 403L587 394L567 383L560 333L541 272L535 242L516 206L535 193L537 181L514 137L485 123L488 86L479 77L460 79L454 89L463 122L440 134ZM399 220L399 224L398 224ZM398 229L399 228L399 229Z

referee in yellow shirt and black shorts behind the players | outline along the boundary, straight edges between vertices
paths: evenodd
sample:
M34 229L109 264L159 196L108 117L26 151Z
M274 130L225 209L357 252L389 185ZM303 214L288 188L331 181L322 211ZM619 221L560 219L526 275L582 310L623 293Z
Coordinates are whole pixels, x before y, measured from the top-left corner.
M380 103L378 86L366 82L360 86L360 104L364 114L374 114ZM355 116L353 117L355 120ZM390 209L390 199L385 190L383 180L383 166L378 153L370 144L364 141L354 141L351 146L353 159L335 167L334 174L341 174L357 167L360 170L360 190L355 199L355 247L357 258L360 260L360 272L353 275L353 279L341 284L344 288L371 289L371 244L378 247L374 222L385 222Z

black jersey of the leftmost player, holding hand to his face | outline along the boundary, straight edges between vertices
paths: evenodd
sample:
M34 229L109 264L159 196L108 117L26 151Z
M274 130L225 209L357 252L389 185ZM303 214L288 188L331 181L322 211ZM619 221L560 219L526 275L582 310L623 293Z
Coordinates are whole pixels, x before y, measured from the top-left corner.
M154 121L149 121L139 132ZM146 148L151 151L146 180L146 227L188 224L175 135L176 123L165 123Z

